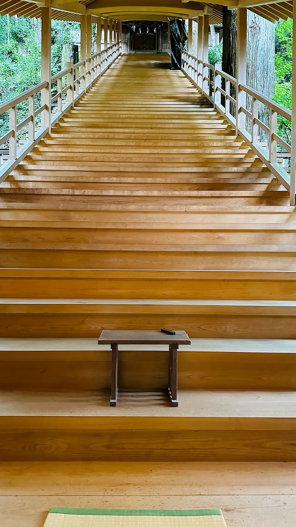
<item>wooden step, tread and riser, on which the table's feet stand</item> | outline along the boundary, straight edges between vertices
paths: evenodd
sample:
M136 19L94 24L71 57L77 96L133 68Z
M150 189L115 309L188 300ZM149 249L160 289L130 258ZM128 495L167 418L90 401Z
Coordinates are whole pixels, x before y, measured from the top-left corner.
M295 392L0 393L3 461L295 461ZM151 448L151 445L154 445Z

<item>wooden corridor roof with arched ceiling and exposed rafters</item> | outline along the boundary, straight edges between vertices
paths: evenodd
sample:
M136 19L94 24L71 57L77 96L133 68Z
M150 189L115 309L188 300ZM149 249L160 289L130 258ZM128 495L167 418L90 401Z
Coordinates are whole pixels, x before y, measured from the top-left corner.
M40 17L42 6L52 6L52 17L69 21L79 21L80 15L113 18L126 21L130 19L154 19L167 21L168 17L192 18L209 14L210 24L222 22L222 7L229 9L238 6L248 7L254 13L275 22L293 15L293 2L277 0L218 0L218 3L197 2L196 0L0 0L0 14L11 16Z

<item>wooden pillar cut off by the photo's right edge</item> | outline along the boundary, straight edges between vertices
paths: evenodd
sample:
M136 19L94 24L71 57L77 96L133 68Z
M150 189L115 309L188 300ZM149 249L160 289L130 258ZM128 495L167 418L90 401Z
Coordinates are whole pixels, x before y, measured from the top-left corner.
M291 180L290 204L295 205L296 192L296 1L293 2L293 44L292 44L292 118L291 118Z

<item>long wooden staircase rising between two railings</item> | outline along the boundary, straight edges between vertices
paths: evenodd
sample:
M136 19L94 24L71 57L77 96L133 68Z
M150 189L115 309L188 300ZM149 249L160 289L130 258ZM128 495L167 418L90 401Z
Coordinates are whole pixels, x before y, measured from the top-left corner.
M1 460L296 460L296 212L167 56L116 61L0 210ZM127 346L110 408L101 329L160 327L179 407Z

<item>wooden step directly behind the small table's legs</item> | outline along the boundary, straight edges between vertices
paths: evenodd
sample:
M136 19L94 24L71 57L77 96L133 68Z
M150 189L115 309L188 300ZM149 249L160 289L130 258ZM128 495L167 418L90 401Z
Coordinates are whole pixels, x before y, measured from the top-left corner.
M178 388L296 391L295 344L192 338L190 346L179 347ZM0 389L110 389L110 353L97 338L2 338ZM167 370L166 346L119 346L121 389L165 389Z

